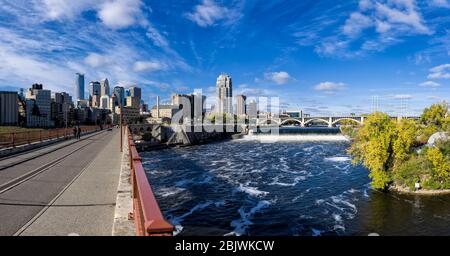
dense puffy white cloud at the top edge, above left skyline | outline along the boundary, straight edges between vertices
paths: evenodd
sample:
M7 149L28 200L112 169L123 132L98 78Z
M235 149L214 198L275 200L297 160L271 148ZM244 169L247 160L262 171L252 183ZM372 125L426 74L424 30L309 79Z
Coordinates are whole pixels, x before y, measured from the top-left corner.
M100 5L98 16L103 24L112 29L134 25L142 19L140 0L114 0Z

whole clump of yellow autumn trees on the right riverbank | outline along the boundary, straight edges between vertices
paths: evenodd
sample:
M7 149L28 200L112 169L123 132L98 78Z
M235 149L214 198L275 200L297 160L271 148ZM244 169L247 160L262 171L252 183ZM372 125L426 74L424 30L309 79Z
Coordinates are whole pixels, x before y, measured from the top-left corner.
M450 127L446 103L424 110L419 121L397 121L376 112L357 131L349 153L354 164L369 169L372 187L387 190L391 185L413 189L422 182L425 189L450 189L450 142L418 150L435 132Z

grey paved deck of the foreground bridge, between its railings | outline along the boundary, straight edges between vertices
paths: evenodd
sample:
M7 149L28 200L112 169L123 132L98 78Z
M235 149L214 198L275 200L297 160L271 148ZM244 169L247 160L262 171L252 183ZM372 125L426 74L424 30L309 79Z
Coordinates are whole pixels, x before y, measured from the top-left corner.
M0 169L0 235L111 235L119 137L104 131Z

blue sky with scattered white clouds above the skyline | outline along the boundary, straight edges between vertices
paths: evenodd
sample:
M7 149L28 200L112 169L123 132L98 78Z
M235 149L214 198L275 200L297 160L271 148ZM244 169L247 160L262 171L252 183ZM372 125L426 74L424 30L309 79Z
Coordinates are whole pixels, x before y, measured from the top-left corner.
M221 73L311 114L419 114L450 99L450 0L0 0L0 90L89 81L157 95Z

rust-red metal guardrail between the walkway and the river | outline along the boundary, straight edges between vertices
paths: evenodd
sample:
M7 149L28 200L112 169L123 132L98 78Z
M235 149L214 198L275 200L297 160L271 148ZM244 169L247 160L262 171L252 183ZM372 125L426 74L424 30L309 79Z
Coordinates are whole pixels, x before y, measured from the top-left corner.
M174 226L164 219L153 190L145 175L130 129L126 127L133 187L133 219L137 236L172 236Z

